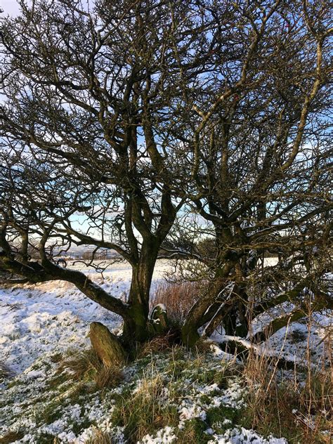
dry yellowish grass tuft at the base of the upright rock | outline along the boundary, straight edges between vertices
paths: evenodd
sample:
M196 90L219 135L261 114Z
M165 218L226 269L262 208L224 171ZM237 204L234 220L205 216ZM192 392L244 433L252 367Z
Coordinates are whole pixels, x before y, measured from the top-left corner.
M93 349L82 351L60 362L58 372L70 372L77 381L94 381L98 389L115 387L123 379L117 367L106 367Z

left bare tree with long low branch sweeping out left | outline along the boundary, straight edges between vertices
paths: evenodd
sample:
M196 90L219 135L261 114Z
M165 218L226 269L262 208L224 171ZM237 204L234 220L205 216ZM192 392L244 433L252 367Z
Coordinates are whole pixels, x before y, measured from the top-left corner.
M126 343L143 341L159 247L183 203L164 124L182 69L173 48L191 51L209 24L191 17L190 1L20 7L1 20L1 267L74 283L122 316ZM36 240L39 261L27 254ZM128 301L56 266L59 243L115 250L132 267Z

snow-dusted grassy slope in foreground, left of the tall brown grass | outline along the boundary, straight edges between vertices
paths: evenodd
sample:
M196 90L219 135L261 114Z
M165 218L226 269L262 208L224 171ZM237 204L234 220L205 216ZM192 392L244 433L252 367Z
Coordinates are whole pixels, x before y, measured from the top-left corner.
M23 430L18 443L58 438L79 444L89 442L97 428L119 444L177 443L189 430L197 433L198 425L207 440L218 436L223 421L224 429L237 426L246 389L238 377L224 381L226 363L210 354L197 357L179 348L141 358L124 369L124 381L103 390L89 378L77 381L60 372L58 360L46 353L6 386L0 436Z

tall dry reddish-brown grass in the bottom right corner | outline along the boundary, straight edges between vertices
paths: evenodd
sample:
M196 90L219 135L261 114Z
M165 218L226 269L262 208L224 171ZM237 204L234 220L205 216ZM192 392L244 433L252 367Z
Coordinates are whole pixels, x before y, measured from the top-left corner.
M282 379L276 359L249 354L244 366L247 408L243 424L263 435L285 437L288 443L331 443L332 365L320 371Z

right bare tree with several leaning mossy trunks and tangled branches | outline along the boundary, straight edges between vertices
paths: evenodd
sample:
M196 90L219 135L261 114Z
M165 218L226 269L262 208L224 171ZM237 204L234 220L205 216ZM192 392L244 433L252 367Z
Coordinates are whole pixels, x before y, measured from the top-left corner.
M207 242L214 240L213 252L192 240L188 249L203 264L197 279L210 283L185 320L186 344L195 344L200 327L209 336L221 322L227 334L247 337L253 317L285 301L291 312L254 340L309 310L333 308L325 278L332 254L329 8L317 0L240 1L228 12L232 20L219 22L223 40L211 51L214 69L207 64L191 91L183 74L175 110L183 113L175 129L188 174L182 195L210 224ZM278 263L264 266L267 256Z

